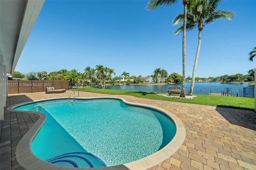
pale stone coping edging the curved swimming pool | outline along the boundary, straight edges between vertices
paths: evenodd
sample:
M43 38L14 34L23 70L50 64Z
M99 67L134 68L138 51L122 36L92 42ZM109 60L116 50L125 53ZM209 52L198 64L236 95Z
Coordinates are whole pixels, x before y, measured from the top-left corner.
M172 154L176 152L182 145L185 136L186 131L183 123L176 117L174 114L172 114L169 111L166 111L165 109L162 109L160 107L155 107L152 105L146 105L141 103L132 103L129 101L126 101L125 99L121 97L76 97L77 99L120 99L124 103L130 104L130 105L139 105L142 107L149 107L152 109L156 109L158 111L161 111L168 115L172 121L174 122L176 126L176 134L174 135L174 138L161 150L146 156L144 158L141 158L139 160L136 160L134 162L129 162L122 165L116 165L116 166L108 166L104 168L94 168L94 170L112 170L112 169L118 169L118 170L127 170L127 169L134 169L134 170L144 170L151 168L152 166L155 166L156 164L166 160L169 158ZM39 101L46 101L46 100L53 100L53 99L68 99L68 97L60 97L60 98L52 98L52 99L43 99L43 100L37 100L37 101L30 101L30 102L24 102L19 103L18 105L13 105L7 108L8 111L17 112L14 110L14 107L18 107L20 105L28 104L28 103L34 103ZM15 157L17 162L26 168L27 170L34 170L34 167L37 167L37 169L52 169L52 170L73 170L74 168L70 167L64 167L64 166L58 166L55 164L51 164L49 162L46 162L37 156L35 156L31 150L31 143L42 125L44 124L44 121L46 120L46 115L43 113L38 112L32 112L32 111L19 111L19 112L26 112L26 113L34 113L39 115L38 121L28 130L28 132L21 138L21 140L18 142L18 145L15 150ZM77 168L75 168L77 169ZM79 168L83 170L88 170L90 168Z

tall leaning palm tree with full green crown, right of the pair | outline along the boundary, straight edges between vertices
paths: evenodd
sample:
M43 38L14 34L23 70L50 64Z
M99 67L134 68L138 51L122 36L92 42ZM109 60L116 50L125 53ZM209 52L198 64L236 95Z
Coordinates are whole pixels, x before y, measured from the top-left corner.
M192 73L192 82L190 85L190 89L187 95L192 95L195 77L196 77L196 67L199 56L199 50L201 46L201 32L205 25L212 24L214 20L220 20L222 18L226 18L231 20L234 17L234 13L227 10L216 10L218 7L218 3L221 0L192 0L190 4L188 4L188 12L187 12L187 25L186 29L193 30L194 28L198 28L198 46L196 51L196 57L194 61L194 68ZM182 23L184 20L184 14L178 14L172 24L177 25ZM183 25L177 28L174 32L174 35L179 34L183 30Z

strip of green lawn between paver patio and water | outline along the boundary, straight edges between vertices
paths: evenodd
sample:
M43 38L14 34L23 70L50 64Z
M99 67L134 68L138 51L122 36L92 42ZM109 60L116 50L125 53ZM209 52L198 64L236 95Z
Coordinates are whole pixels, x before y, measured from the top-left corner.
M134 90L112 90L112 89L94 89L91 87L75 88L70 90L86 91L92 93L102 93L110 95L131 95L146 99L155 99L162 101L174 101L181 103L192 103L199 105L218 106L233 109L244 109L254 111L254 98L248 97L228 97L228 96L213 96L213 95L196 95L193 99L175 99L162 97L156 94L166 94L152 91L134 91Z

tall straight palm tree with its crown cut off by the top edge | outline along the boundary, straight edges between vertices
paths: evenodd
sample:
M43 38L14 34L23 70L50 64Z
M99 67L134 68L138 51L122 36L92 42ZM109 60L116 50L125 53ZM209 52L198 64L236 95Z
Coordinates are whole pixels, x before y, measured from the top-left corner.
M171 4L176 3L178 0L150 0L148 2L148 9L156 9L157 6L166 5L169 6ZM182 90L180 93L180 97L185 96L185 84L186 84L186 21L187 21L187 4L190 0L182 0L184 6L184 20L183 20L183 36L182 36Z

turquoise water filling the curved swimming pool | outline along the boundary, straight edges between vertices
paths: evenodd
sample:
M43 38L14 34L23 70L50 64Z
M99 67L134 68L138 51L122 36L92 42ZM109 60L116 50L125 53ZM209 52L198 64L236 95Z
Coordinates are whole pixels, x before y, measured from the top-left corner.
M32 152L60 166L93 168L132 162L157 152L176 133L164 113L119 99L58 99L14 109L47 115Z

